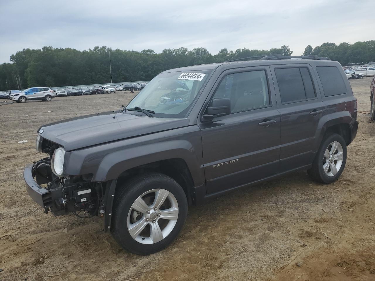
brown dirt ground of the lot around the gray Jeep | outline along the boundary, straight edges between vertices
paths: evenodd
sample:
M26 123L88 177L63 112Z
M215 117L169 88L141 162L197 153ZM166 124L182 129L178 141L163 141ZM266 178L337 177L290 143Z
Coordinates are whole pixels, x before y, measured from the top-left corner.
M359 111L370 109L370 81L351 81ZM375 280L375 122L368 114L358 114L337 182L317 184L298 172L191 206L178 239L150 256L122 250L102 218L43 214L23 181L24 166L44 157L34 148L37 129L117 110L131 97L0 106L0 280Z

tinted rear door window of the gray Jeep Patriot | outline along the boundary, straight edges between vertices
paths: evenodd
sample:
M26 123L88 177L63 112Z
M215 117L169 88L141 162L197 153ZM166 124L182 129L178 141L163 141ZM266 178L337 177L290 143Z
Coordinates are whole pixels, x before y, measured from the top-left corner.
M317 96L306 67L279 68L275 69L275 74L282 103L299 102Z

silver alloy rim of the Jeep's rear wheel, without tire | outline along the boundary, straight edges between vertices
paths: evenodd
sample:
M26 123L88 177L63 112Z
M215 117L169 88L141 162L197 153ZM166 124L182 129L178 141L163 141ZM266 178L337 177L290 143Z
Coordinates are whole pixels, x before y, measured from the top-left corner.
M331 142L323 158L323 169L327 176L335 176L342 165L344 150L339 142Z

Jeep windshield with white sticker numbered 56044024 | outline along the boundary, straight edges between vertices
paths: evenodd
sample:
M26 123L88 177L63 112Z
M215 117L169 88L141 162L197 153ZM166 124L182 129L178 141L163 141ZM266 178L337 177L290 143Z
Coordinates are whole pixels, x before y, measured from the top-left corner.
M185 118L211 71L161 73L126 108L139 106L154 111L155 117Z

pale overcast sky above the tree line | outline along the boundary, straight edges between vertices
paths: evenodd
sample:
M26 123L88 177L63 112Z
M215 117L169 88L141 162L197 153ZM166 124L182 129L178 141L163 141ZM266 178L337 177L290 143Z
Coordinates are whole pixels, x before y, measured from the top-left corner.
M375 39L374 0L0 0L0 63L23 48L270 49ZM282 6L284 4L284 7ZM288 5L288 6L285 6Z

